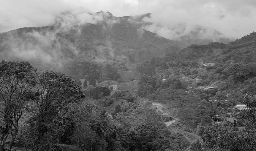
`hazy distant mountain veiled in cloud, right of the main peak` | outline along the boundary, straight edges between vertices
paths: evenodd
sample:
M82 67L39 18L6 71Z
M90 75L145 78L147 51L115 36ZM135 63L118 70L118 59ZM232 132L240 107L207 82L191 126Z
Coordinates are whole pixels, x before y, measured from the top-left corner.
M163 25L162 23L155 23L151 20L150 14L142 18L143 28L161 35L167 39L175 40L182 43L182 47L197 44L205 45L210 42L228 43L233 39L227 38L215 29L205 28L203 26L191 26L186 23L179 25Z

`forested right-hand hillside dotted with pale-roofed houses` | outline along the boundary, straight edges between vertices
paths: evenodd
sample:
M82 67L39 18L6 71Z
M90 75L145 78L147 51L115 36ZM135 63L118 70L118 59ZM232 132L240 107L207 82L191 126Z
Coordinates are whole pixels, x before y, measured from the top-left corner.
M144 74L138 95L165 105L179 119L170 126L176 131L186 136L197 129L201 139L191 144L193 151L255 150L255 37L191 45L176 58L146 60L136 68Z

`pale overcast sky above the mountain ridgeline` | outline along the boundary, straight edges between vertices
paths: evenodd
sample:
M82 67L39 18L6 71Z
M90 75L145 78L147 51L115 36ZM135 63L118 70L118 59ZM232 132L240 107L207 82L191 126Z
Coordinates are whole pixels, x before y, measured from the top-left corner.
M0 0L0 33L51 25L61 12L101 10L114 16L152 13L156 25L203 26L235 39L256 31L256 0Z

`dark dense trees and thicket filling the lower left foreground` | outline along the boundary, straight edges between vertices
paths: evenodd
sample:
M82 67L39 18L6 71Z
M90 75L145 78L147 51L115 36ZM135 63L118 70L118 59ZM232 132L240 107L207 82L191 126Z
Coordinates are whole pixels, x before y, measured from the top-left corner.
M0 63L1 150L164 150L188 147L168 130L163 117L129 91L88 86L55 71L37 71L28 62ZM107 81L106 81L107 82ZM102 106L121 100L112 114ZM29 114L25 123L24 116ZM110 118L111 117L111 118Z

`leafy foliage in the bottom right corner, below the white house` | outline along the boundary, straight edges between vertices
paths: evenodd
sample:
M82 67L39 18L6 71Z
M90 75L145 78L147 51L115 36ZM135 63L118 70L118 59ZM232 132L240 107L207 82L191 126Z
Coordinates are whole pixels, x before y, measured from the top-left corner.
M239 131L236 122L223 122L212 126L198 126L198 133L202 138L202 143L192 145L193 150L230 150L248 151L255 150L255 96L245 95L243 102L248 105L245 109L237 113L239 119L245 119L246 129Z

